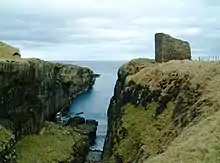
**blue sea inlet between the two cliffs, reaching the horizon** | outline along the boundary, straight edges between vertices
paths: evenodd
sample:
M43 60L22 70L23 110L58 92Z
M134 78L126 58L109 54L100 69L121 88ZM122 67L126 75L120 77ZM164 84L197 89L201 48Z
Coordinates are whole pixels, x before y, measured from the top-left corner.
M114 93L117 71L126 61L74 61L61 63L89 67L95 73L101 74L92 90L73 100L70 113L84 112L83 117L95 119L99 122L96 144L92 149L102 150L107 132L107 109Z

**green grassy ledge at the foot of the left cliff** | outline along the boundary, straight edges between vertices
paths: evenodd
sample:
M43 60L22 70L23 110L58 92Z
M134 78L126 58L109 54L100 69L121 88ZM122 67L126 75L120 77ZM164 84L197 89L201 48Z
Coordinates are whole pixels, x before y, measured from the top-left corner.
M15 146L18 163L69 162L80 148L83 137L69 127L46 123L39 135L30 135Z

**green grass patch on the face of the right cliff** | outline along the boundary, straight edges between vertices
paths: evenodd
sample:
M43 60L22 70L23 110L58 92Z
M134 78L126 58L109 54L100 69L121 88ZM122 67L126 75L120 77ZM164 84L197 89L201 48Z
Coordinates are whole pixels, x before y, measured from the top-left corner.
M151 103L147 110L142 106L135 108L132 104L124 106L122 127L127 134L115 146L114 151L123 157L125 162L132 162L141 150L150 151L150 155L160 152L160 140L169 129L173 104L170 102L165 112L158 117L154 116L156 107L155 102Z

